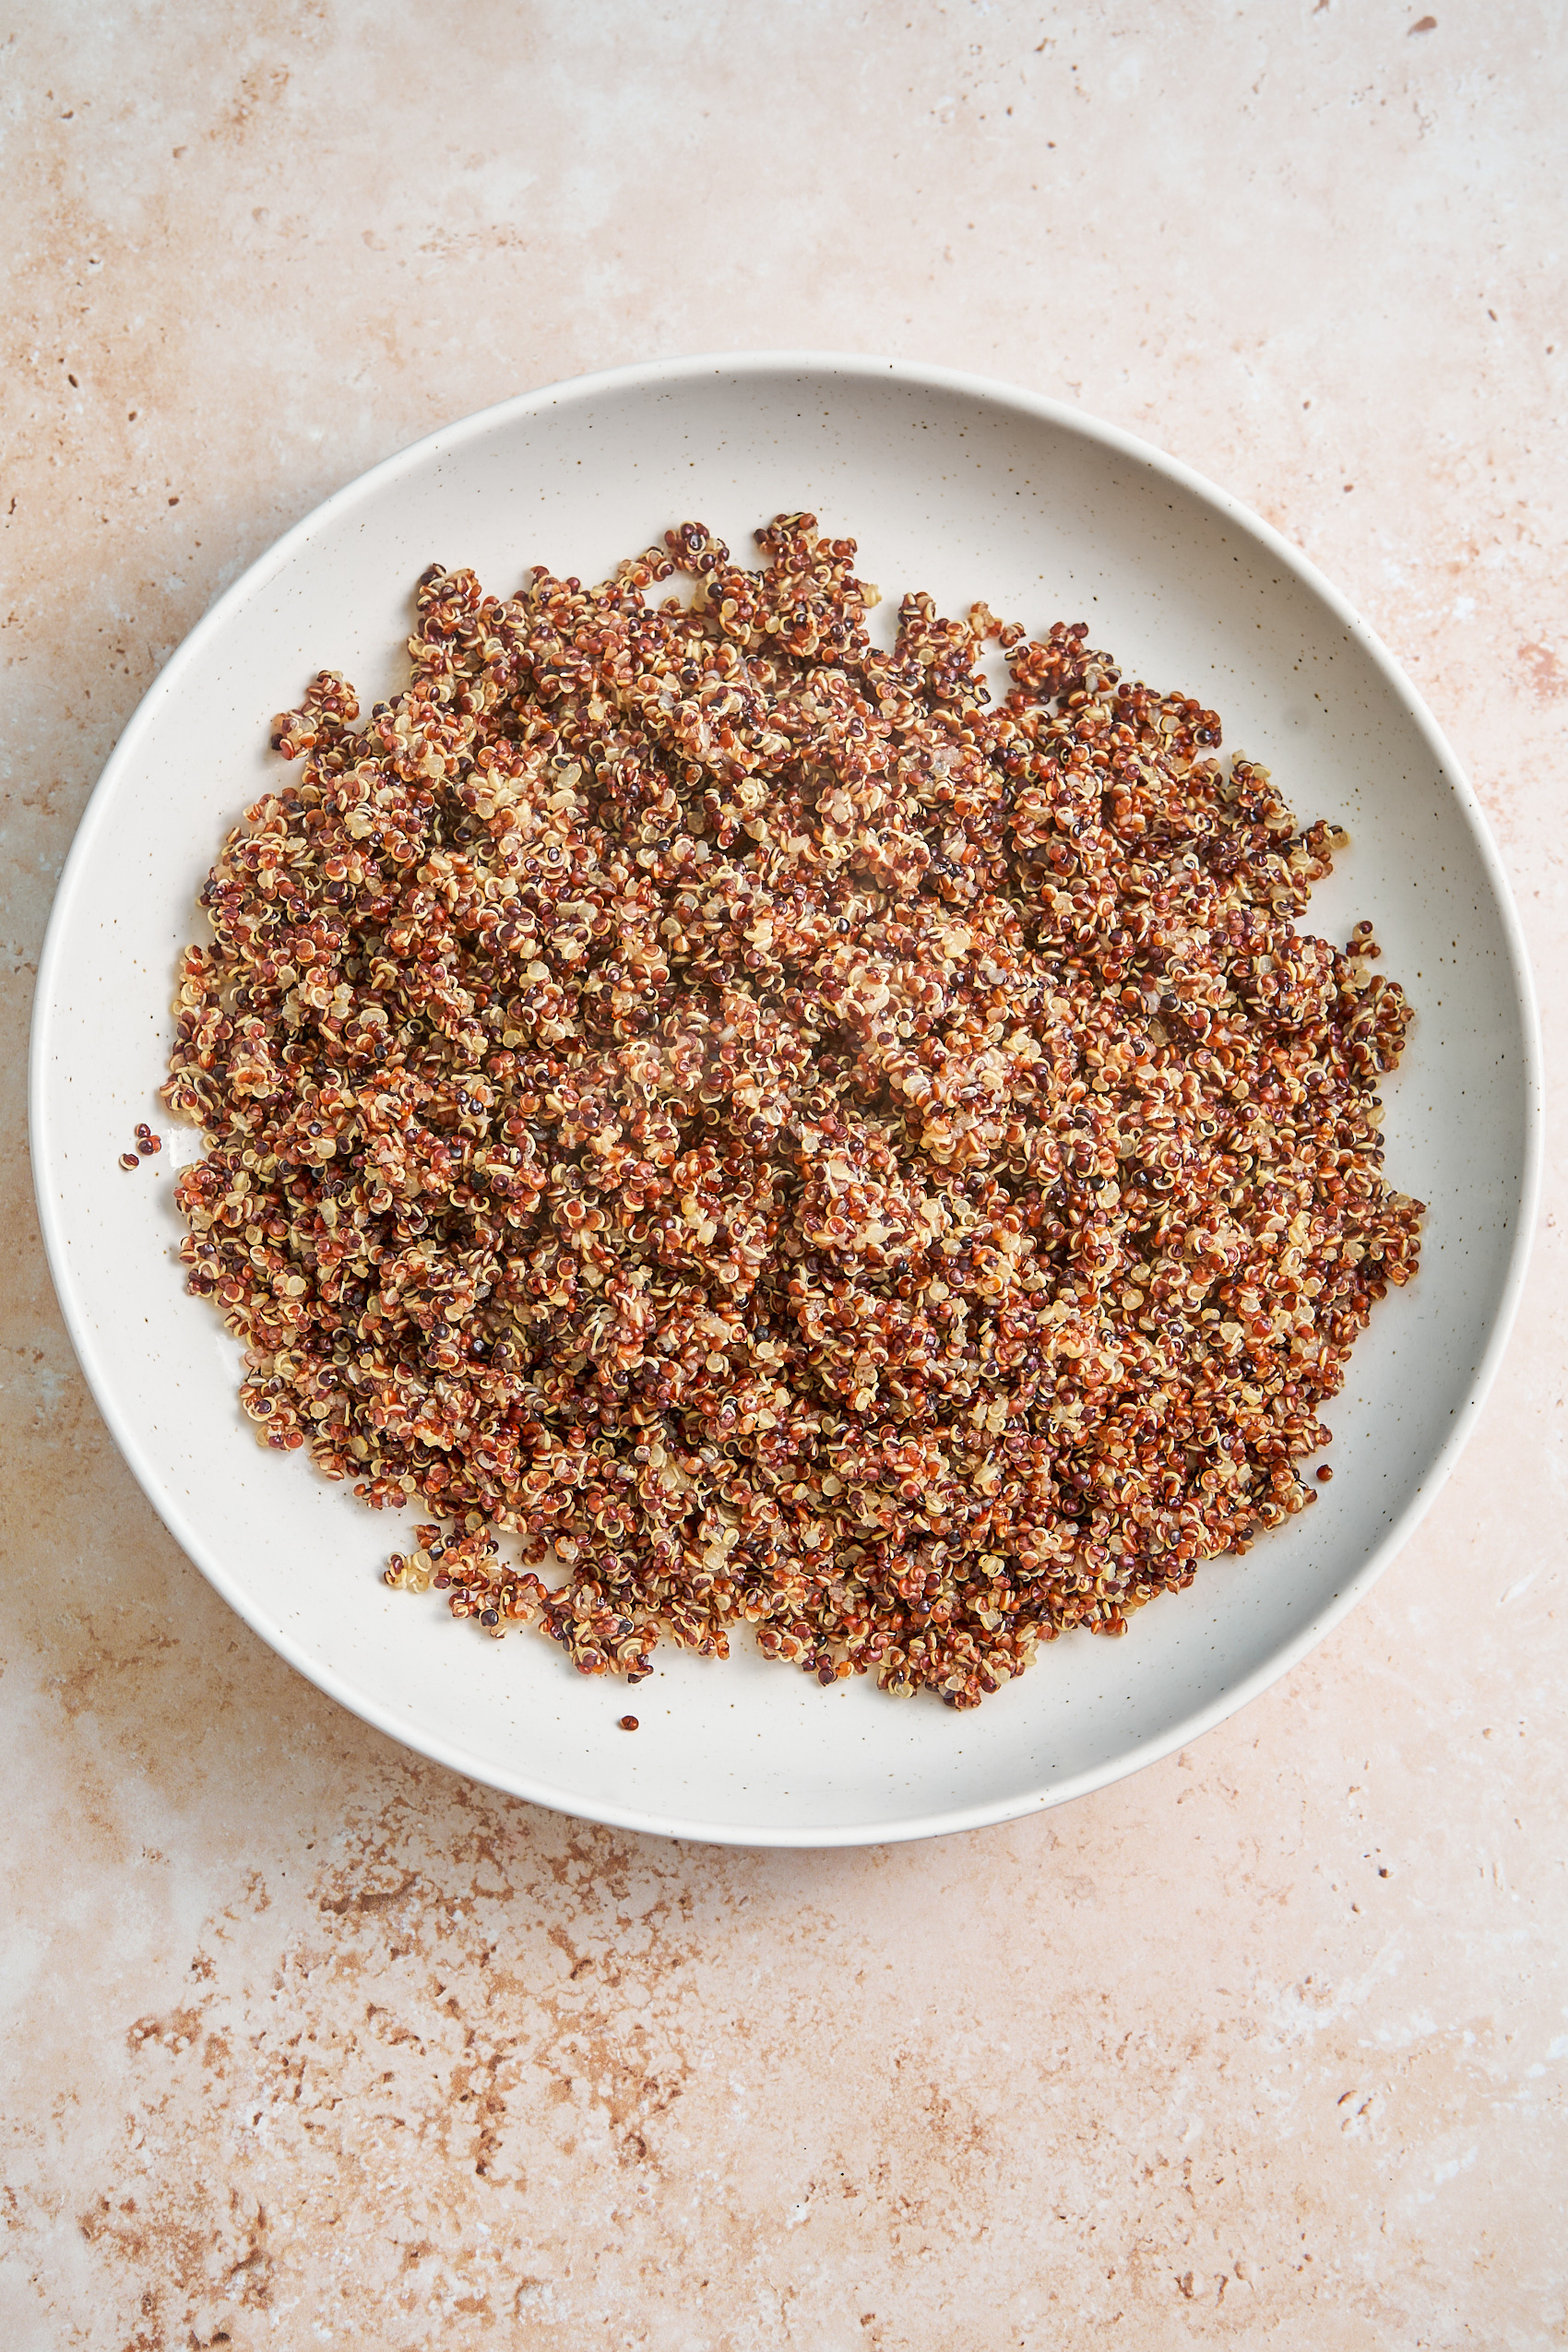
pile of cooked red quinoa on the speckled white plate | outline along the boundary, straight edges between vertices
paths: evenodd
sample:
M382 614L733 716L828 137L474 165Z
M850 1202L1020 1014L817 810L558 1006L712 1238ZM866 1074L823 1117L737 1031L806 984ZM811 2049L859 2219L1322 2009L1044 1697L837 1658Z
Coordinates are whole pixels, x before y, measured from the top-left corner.
M407 691L275 722L183 957L181 1256L259 1437L423 1512L388 1583L971 1708L1314 1501L1420 1254L1408 1004L1295 929L1342 835L1213 710L983 604L884 652L853 541L757 541L433 564Z

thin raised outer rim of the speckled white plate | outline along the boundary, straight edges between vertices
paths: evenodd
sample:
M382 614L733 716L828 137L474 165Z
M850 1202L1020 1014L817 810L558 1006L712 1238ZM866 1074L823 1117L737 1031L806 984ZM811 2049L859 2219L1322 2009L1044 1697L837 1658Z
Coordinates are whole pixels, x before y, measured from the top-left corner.
M1225 1686L1222 1693L1192 1708L1180 1717L1178 1724L1166 1731L1150 1733L1143 1740L1121 1748L1114 1759L1105 1764L1088 1766L1065 1780L1053 1780L1046 1788L1027 1788L1023 1792L987 1799L966 1806L947 1806L933 1813L912 1813L900 1820L856 1820L839 1823L832 1828L792 1828L792 1825L762 1825L748 1828L741 1823L712 1823L686 1816L672 1816L661 1811L646 1811L635 1804L621 1804L604 1797L583 1797L567 1788L552 1785L536 1778L534 1773L505 1773L498 1771L491 1757L477 1757L465 1750L458 1740L442 1738L440 1733L423 1731L395 1719L395 1710L378 1700L371 1691L355 1686L346 1675L324 1665L315 1658L306 1642L296 1639L284 1625L268 1621L266 1611L247 1599L247 1592L216 1552L200 1538L195 1526L188 1524L174 1494L167 1491L160 1472L141 1446L139 1435L129 1428L127 1416L120 1409L118 1390L106 1376L103 1364L96 1357L96 1345L92 1338L92 1327L85 1315L78 1287L71 1272L68 1235L63 1232L61 1218L54 1209L54 1192L49 1185L54 1145L52 1145L52 1120L49 1120L49 1080L54 1070L52 1049L52 1007L56 1000L59 964L63 957L66 934L71 929L73 906L82 887L82 877L92 866L94 842L99 828L103 826L106 811L115 797L122 771L136 760L141 736L153 724L155 713L169 701L169 696L181 687L186 673L195 668L207 652L212 637L219 635L230 612L244 604L268 579L277 576L289 560L303 548L313 534L322 527L336 522L341 515L350 513L357 503L374 499L381 489L393 482L400 473L418 470L428 459L463 447L470 440L482 437L498 426L515 419L541 414L552 407L592 402L607 393L628 390L651 390L658 386L693 383L710 376L764 376L764 374L811 374L823 379L851 379L860 383L907 383L922 390L954 393L966 400L976 400L990 409L1013 409L1039 423L1056 426L1074 437L1098 442L1105 449L1126 456L1128 461L1147 468L1150 473L1173 482L1190 496L1211 506L1220 517L1234 522L1248 539L1262 546L1279 564L1284 564L1305 588L1309 588L1321 604L1340 621L1349 640L1371 659L1373 668L1380 673L1385 687L1392 689L1394 699L1403 706L1408 720L1413 720L1418 734L1422 736L1427 750L1439 762L1446 781L1455 795L1460 814L1472 835L1472 844L1481 858L1481 868L1490 882L1500 917L1502 936L1507 948L1507 971L1512 983L1512 1002L1519 1023L1519 1035L1523 1044L1523 1164L1519 1169L1519 1211L1516 1228L1509 1244L1507 1275L1500 1289L1500 1298L1493 1312L1486 1348L1476 1367L1472 1369L1465 1402L1453 1414L1450 1430L1443 1444L1436 1449L1425 1472L1415 1482L1415 1489L1399 1512L1396 1519L1382 1531L1380 1541L1368 1550L1366 1559L1342 1581L1335 1595L1319 1606L1295 1632L1281 1642L1269 1656L1255 1665L1248 1675ZM1394 1555L1410 1538L1420 1519L1436 1501L1446 1479L1450 1477L1474 1423L1486 1404L1486 1397L1497 1378L1497 1369L1507 1352L1509 1338L1514 1334L1514 1322L1519 1317L1519 1305L1523 1298L1526 1272L1530 1263L1530 1249L1535 1240L1535 1225L1540 1216L1540 1188L1542 1188L1542 1162L1544 1162L1544 1068L1542 1068L1542 1035L1540 1035L1540 1007L1535 995L1535 981L1530 974L1530 957L1523 936L1523 922L1514 901L1514 891L1502 866L1502 854L1493 837L1486 811L1469 783L1469 776L1458 760L1453 746L1448 743L1436 717L1427 708L1425 699L1415 689L1413 680L1406 675L1394 654L1382 644L1378 633L1366 623L1356 607L1326 579L1324 572L1295 548L1274 524L1265 522L1253 508L1232 492L1211 482L1197 468L1187 466L1182 459L1171 456L1154 442L1145 442L1121 426L1107 423L1105 419L1091 416L1072 402L1053 400L1046 393L1034 393L1025 386L1006 383L1001 379L983 376L971 369L938 367L919 360L896 360L877 358L870 353L837 353L837 350L809 350L809 348L778 348L778 350L738 350L738 353L691 353L663 360L639 360L623 367L595 369L581 376L567 376L555 383L538 386L534 390L512 393L505 400L491 402L489 407L475 409L468 416L458 416L449 423L435 426L430 433L421 433L416 440L395 449L390 456L378 459L364 473L343 482L339 489L329 492L317 506L292 522L270 546L256 555L244 572L223 588L214 602L202 612L195 626L176 644L169 659L162 663L146 694L132 710L125 729L120 731L96 786L92 788L82 816L66 854L59 884L54 889L54 903L49 908L49 922L45 929L45 943L38 960L38 983L33 990L33 1016L28 1037L28 1155L33 1167L33 1195L38 1202L38 1221L45 1242L45 1256L49 1261L49 1275L54 1279L54 1291L59 1298L61 1317L71 1336L78 1364L92 1390L94 1404L103 1416L103 1423L120 1449L122 1461L132 1470L132 1477L141 1486L141 1494L153 1505L162 1524L169 1529L174 1541L181 1545L186 1557L202 1571L214 1592L240 1616L252 1632L256 1632L268 1649L273 1649L287 1665L306 1677L317 1691L336 1700L350 1715L371 1724L383 1736L393 1738L400 1748L411 1748L416 1755L428 1757L433 1764L442 1764L447 1771L463 1773L484 1788L496 1788L505 1795L522 1797L529 1804L541 1804L548 1811L567 1813L578 1820L595 1820L611 1830L625 1830L632 1835L654 1835L670 1839L691 1839L696 1844L717 1846L741 1846L741 1849L837 1849L837 1846L877 1846L877 1844L910 1844L926 1837L947 1837L961 1830L990 1828L1004 1820L1018 1820L1030 1813L1048 1811L1058 1804L1070 1804L1074 1797L1084 1797L1095 1788L1107 1788L1117 1780L1143 1771L1147 1764L1157 1764L1161 1757L1173 1755L1190 1740L1201 1738L1218 1724L1239 1715L1241 1708L1251 1705L1253 1698L1262 1696L1274 1682L1291 1672L1319 1642L1324 1642L1333 1628L1354 1609L1354 1604L1373 1588L1382 1576Z

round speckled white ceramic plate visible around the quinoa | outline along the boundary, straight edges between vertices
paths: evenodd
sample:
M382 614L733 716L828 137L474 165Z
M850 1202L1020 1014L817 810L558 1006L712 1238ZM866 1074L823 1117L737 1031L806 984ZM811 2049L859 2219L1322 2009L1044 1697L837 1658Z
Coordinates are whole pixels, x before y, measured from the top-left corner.
M1241 1562L1206 1566L1121 1642L1067 1637L978 1712L820 1691L738 1653L658 1651L616 1717L538 1637L480 1642L376 1576L402 1517L263 1454L237 1350L174 1265L160 1117L172 974L223 830L277 762L268 720L322 666L364 706L402 682L418 572L531 562L599 579L696 517L750 532L811 508L860 541L891 614L985 597L1220 710L1302 818L1352 849L1312 929L1375 917L1415 1000L1385 1087L1387 1171L1429 1204L1422 1272L1375 1312L1331 1406L1335 1482ZM1342 597L1267 524L1110 426L896 362L677 360L529 393L433 433L292 529L190 633L136 710L61 880L33 1028L45 1240L82 1369L169 1531L266 1642L367 1722L456 1771L632 1830L733 1844L926 1837L1060 1804L1253 1698L1349 1609L1432 1503L1519 1298L1540 1162L1540 1049L1519 922L1458 762ZM167 1136L115 1169L136 1120ZM188 1155L188 1152L186 1152ZM411 1517L411 1515L409 1515Z

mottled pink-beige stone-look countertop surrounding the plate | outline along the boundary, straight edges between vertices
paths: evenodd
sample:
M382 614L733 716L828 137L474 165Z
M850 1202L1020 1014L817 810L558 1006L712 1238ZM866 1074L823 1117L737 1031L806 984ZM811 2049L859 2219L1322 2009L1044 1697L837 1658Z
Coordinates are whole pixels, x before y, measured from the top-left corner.
M1013 1828L741 1853L280 1665L120 1463L26 1157L54 880L216 590L442 419L759 346L1081 402L1298 541L1469 764L1556 1108L1568 45L1434 7L0 12L9 2352L1568 2343L1561 1176L1286 1682Z

